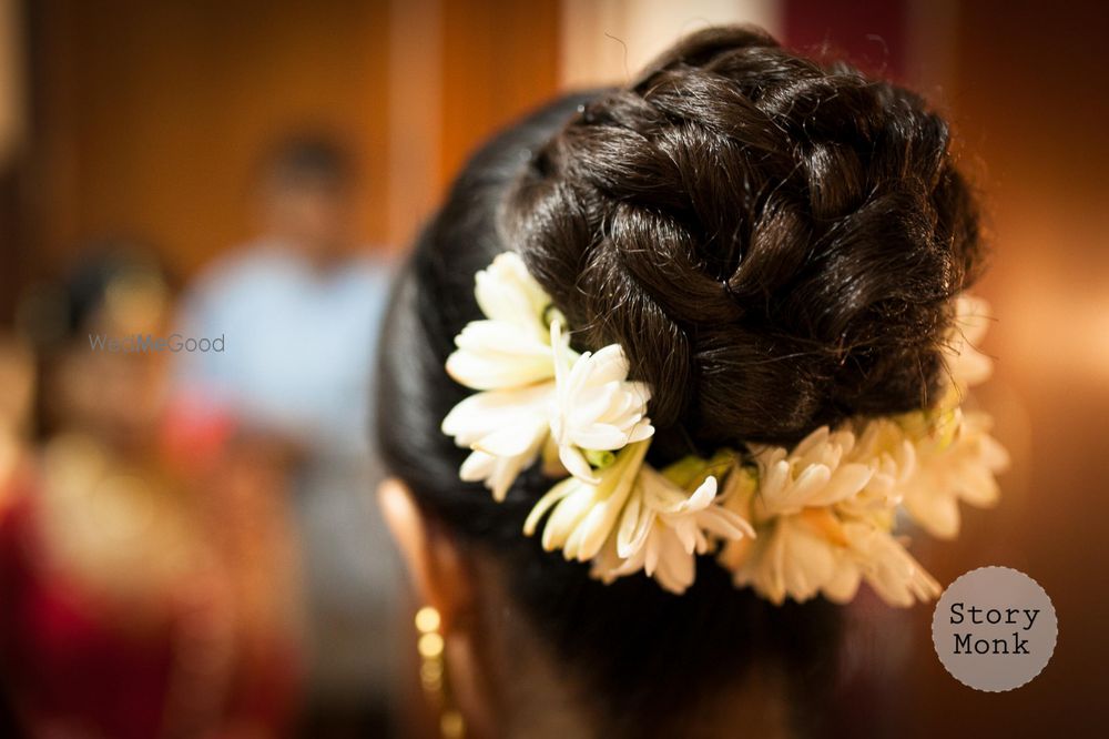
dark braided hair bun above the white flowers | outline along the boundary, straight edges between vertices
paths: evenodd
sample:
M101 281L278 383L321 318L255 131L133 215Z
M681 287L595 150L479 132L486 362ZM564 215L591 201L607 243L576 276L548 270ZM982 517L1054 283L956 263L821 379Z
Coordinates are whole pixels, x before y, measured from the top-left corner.
M936 399L980 255L948 140L912 92L706 30L580 105L501 227L578 345L624 347L663 437L787 444Z

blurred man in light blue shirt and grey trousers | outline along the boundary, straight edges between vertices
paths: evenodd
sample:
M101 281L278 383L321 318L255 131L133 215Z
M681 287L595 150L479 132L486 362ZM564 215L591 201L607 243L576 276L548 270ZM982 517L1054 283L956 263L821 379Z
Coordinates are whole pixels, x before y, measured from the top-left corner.
M389 271L352 233L356 172L327 136L299 134L263 160L260 236L207 267L186 296L187 334L225 348L183 356L177 404L226 413L295 459L305 546L312 713L385 713L395 675L397 565L366 489L367 377Z

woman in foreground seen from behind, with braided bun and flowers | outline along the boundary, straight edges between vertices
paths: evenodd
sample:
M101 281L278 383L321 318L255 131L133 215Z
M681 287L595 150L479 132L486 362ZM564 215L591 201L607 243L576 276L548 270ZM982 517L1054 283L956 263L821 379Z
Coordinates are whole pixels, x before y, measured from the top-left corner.
M948 144L915 94L716 28L475 155L379 373L438 733L836 730L836 604L939 591L892 532L933 462L892 455L1000 467L958 425L983 245Z

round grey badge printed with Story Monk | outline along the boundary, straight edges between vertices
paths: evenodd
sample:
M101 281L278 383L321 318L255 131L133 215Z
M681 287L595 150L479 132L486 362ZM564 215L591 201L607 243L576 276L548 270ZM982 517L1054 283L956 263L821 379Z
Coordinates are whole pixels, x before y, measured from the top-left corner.
M939 661L976 690L1031 680L1051 659L1058 621L1039 583L1009 567L974 569L948 586L932 616Z

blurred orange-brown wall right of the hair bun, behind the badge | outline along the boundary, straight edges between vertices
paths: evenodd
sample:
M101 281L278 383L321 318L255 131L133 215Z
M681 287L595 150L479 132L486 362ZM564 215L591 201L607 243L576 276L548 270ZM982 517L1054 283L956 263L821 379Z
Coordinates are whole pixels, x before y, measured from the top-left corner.
M981 695L918 655L915 736L1090 736L1106 689L1109 554L1109 6L976 0L956 17L947 97L964 163L985 194L997 317L981 402L1014 457L1003 503L949 549L969 566L1022 569L1059 618L1055 656L1017 690Z

